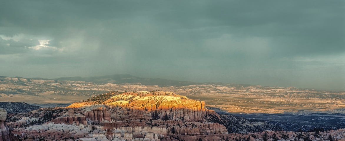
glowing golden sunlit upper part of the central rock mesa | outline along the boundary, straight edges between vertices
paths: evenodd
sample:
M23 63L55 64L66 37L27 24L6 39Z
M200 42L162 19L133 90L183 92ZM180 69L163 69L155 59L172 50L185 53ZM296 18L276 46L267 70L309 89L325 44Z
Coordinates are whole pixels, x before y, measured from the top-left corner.
M67 108L80 108L82 106L95 104L91 101L73 103ZM115 107L128 107L138 110L172 110L172 109L191 109L195 111L205 111L205 102L188 99L185 96L177 95L165 91L139 91L127 92L115 95L101 104Z

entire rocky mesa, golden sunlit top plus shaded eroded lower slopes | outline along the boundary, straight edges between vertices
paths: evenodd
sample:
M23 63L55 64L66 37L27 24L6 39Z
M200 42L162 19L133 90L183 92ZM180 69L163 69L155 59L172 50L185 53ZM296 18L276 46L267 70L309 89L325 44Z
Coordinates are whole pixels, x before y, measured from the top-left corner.
M19 139L179 140L279 130L265 122L219 116L203 101L166 91L111 92L66 108L41 108L9 114Z

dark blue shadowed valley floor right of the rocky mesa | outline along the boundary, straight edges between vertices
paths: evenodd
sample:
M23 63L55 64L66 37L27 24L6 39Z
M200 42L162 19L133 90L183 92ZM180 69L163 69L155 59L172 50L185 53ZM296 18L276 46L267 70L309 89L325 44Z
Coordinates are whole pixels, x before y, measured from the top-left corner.
M309 115L293 114L267 114L267 113L229 113L218 108L215 110L220 115L235 115L252 121L267 121L282 127L285 131L323 131L345 128L345 115L341 113L312 113Z

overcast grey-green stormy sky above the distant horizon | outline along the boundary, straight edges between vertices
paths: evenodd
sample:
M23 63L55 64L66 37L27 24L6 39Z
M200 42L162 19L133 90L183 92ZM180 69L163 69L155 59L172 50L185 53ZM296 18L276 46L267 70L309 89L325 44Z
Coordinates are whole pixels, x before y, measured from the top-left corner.
M0 66L345 90L345 1L3 1Z

